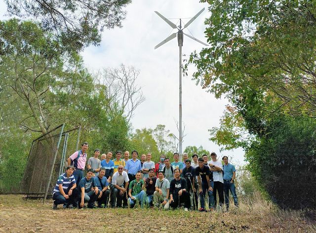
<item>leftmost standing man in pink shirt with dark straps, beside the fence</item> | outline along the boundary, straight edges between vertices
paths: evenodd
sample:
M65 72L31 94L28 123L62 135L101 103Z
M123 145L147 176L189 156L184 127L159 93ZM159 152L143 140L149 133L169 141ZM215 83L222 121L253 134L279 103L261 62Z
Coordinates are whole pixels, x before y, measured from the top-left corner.
M85 153L87 149L88 143L83 142L81 150L76 151L67 159L68 166L73 165L75 167L73 175L75 176L77 187L79 187L79 182L83 178L85 162L87 161L87 154Z

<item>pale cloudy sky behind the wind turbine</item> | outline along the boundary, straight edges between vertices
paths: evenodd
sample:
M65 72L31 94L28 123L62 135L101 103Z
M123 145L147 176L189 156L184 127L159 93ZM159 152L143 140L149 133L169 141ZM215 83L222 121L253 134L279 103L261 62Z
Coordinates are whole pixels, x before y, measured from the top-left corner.
M122 28L104 30L100 46L90 46L82 52L85 66L91 71L120 64L140 70L137 84L141 86L146 100L138 106L131 120L133 129L152 128L158 124L166 126L178 135L175 120L179 120L179 47L177 38L161 47L154 47L177 30L164 22L154 11L158 11L174 24L179 18L184 24L203 7L205 10L191 23L184 33L193 35L206 43L204 20L209 16L208 4L198 0L134 0L125 10L126 19ZM0 19L4 19L5 4L0 0ZM199 52L204 45L184 36L183 55ZM183 57L184 59L185 57ZM214 151L219 158L227 155L232 161L244 164L242 149L219 151L219 146L209 141L208 129L219 126L228 100L215 99L196 81L191 80L194 66L189 67L188 77L182 79L182 121L186 146L200 146Z

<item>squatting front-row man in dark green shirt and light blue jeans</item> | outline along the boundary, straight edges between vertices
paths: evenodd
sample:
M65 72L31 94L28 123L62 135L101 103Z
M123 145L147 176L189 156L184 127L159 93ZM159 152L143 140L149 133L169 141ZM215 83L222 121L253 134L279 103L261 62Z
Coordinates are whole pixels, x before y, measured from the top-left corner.
M144 206L145 182L141 178L142 178L142 173L140 171L137 171L135 174L135 179L129 183L128 200L129 200L130 208L133 208L135 206L136 200L140 201L141 207Z

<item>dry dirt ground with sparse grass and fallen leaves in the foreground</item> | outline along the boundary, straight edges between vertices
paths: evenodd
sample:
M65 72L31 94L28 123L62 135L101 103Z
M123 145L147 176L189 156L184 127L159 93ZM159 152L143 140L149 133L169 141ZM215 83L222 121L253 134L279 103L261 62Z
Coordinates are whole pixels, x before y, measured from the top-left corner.
M185 212L156 209L62 209L52 201L24 200L21 195L0 195L0 233L34 232L316 232L315 225L296 215L272 218L275 213L232 208L229 212ZM268 216L271 215L271 216Z

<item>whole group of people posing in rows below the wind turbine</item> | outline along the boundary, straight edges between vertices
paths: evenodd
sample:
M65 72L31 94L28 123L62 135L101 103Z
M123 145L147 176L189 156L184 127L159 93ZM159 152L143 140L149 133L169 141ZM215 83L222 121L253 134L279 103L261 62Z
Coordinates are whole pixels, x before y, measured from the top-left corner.
M68 158L66 172L58 177L52 193L53 209L57 209L58 204L63 204L64 208L83 208L85 203L88 208L127 208L128 205L133 208L139 202L141 207L147 205L164 210L184 207L186 211L202 212L207 211L206 193L209 210L217 206L217 193L219 206L228 209L229 192L238 207L234 184L236 169L228 163L227 156L222 158L223 165L214 152L210 161L207 155L198 158L197 154L192 155L191 161L188 154L183 153L183 162L179 161L179 154L174 153L174 162L170 163L169 158L161 155L155 164L151 161L151 153L141 155L139 160L136 150L132 151L131 159L128 151L123 158L122 152L117 151L112 160L113 153L108 151L99 160L100 150L96 149L87 161L87 149L88 143L84 142L81 150Z

